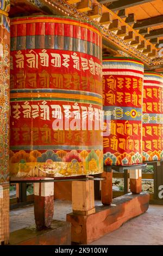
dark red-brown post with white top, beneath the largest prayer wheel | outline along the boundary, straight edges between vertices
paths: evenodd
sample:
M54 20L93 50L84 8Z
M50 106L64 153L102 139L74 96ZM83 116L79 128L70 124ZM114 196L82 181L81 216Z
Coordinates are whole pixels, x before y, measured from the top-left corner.
M36 228L50 227L54 214L54 183L34 183L34 214Z

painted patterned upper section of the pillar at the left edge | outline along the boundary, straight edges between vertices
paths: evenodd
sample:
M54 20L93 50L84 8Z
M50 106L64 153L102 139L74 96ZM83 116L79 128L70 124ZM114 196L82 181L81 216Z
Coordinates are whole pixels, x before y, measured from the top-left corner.
M9 1L1 1L0 9L9 10ZM9 18L0 10L0 184L9 180ZM6 23L6 21L8 21Z

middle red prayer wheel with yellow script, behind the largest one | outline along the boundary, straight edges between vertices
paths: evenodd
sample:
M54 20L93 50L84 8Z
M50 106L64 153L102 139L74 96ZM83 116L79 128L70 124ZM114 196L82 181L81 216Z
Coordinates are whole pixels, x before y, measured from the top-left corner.
M103 58L104 164L142 162L143 64L133 58Z

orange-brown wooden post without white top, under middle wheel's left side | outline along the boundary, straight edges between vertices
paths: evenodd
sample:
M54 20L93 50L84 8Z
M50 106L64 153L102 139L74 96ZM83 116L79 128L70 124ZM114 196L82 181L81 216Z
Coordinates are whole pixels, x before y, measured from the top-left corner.
M105 178L101 182L101 200L109 205L112 202L112 169L105 169L101 177Z

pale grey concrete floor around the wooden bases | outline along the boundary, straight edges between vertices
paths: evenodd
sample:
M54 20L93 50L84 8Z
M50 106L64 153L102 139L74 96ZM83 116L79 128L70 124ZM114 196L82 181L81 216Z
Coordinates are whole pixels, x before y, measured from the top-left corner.
M96 202L96 205L101 202ZM54 219L66 220L71 202L55 200ZM10 211L10 231L35 224L33 206ZM122 227L91 245L163 245L163 205L150 205L145 214L124 223Z

